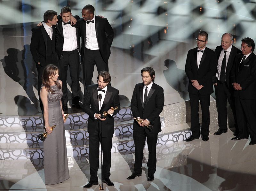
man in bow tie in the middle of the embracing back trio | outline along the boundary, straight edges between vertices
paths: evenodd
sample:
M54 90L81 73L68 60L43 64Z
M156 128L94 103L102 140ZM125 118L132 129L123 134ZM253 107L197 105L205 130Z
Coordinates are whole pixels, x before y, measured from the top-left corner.
M61 16L61 17L60 17ZM68 89L67 89L67 75L68 66L70 70L71 91L72 91L72 106L81 108L79 105L79 53L80 50L80 38L78 34L78 28L75 25L71 25L70 17L71 9L68 6L61 8L60 18L58 21L58 27L60 30L56 31L56 52L59 57L60 64L60 80L63 82L62 92L62 108L68 110ZM74 16L75 19L80 19L78 16Z

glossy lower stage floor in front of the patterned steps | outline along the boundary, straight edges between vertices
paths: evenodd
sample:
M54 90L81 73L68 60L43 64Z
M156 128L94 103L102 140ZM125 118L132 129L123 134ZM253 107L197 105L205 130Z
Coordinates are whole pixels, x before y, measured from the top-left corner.
M134 153L113 153L111 176L115 184L104 190L255 190L256 147L248 140L231 141L233 133L219 136L210 134L210 140L178 142L157 147L155 180L148 182L148 151L144 149L142 176L126 180L131 175ZM44 185L43 159L0 160L0 188L10 190L87 190L83 186L90 178L87 157L69 158L70 179L56 185ZM98 171L100 181L100 170ZM92 186L88 190L99 190Z

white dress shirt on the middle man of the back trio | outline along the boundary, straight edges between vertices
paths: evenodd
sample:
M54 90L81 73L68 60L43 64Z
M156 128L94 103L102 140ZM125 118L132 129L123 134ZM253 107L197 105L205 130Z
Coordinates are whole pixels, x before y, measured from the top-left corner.
M77 40L76 40L76 27L72 27L70 24L64 25L62 23L63 29L63 51L72 51L77 49Z

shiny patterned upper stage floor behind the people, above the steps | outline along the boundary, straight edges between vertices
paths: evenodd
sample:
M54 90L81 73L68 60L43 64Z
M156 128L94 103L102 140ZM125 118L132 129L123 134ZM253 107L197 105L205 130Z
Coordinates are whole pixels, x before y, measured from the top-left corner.
M255 39L255 2L245 0L88 0L95 14L108 18L114 29L109 58L112 86L119 89L121 105L130 105L132 91L141 82L140 70L151 66L155 82L164 88L165 105L188 100L184 67L189 49L196 47L198 31L209 33L207 46L215 49L221 35ZM69 5L81 17L84 1L0 1L0 115L38 115L37 71L29 50L31 28L46 10L60 13ZM94 71L93 82L97 72ZM82 72L80 101L82 101ZM70 78L68 78L70 85ZM69 90L71 88L68 86ZM71 99L71 94L68 94ZM212 95L214 98L214 94ZM80 112L69 107L69 113Z

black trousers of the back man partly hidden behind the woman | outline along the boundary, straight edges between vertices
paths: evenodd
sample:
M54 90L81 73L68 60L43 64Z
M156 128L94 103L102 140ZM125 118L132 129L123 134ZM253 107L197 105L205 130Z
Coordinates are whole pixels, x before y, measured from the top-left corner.
M43 103L42 103L41 97L40 97L40 90L41 90L41 86L42 86L42 75L43 75L45 66L47 66L49 64L56 65L59 68L57 54L51 54L49 56L46 56L46 59L42 59L42 61L40 62L40 65L36 63L37 74L38 74L38 76L37 76L38 77L37 91L38 91L38 96L39 96L40 108L42 111L43 111Z

